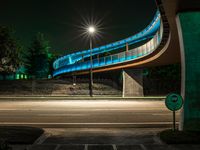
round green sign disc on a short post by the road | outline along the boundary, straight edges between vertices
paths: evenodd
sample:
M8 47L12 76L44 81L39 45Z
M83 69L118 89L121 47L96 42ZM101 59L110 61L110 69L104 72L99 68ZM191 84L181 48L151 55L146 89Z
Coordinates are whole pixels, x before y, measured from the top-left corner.
M183 98L175 93L167 95L165 99L166 107L171 111L177 111L183 106Z

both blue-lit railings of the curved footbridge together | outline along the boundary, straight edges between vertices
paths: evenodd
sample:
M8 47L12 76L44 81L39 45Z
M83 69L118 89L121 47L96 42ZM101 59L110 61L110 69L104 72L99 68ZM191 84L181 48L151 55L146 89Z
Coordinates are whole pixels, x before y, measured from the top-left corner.
M145 40L145 39L153 39L153 40L157 39L157 42L159 43L161 41L160 36L162 36L160 34L162 34L162 33L158 32L160 27L161 27L160 13L158 11L156 13L156 16L157 17L154 17L154 20L152 21L153 23L150 24L151 26L150 25L148 26L151 29L148 30L147 29L148 27L147 27L145 30L142 31L142 32L146 31L146 33L140 32L140 33L136 34L137 36L135 35L136 38L134 40L131 40L131 38L133 38L135 36L127 38L125 40L121 40L121 43L120 43L120 41L118 41L118 42L115 42L115 43L112 43L112 44L108 44L106 46L101 46L100 48L95 48L95 49L93 49L93 55L97 55L99 53L105 53L105 52L110 51L111 49L115 50L115 49L125 47L127 42L124 42L124 41L126 41L126 40L129 40L129 42L128 42L129 45L137 43L137 41L141 41L141 40ZM140 35L141 33L143 35ZM137 37L139 37L139 38L137 38ZM158 44L158 43L156 43L156 44ZM113 64L122 63L122 62L125 62L125 61L130 61L130 60L133 60L133 59L137 59L137 58L142 57L142 56L146 56L149 53L151 53L152 51L154 51L156 46L154 45L154 49L152 49L152 48L146 49L143 52L141 52L139 50L141 48L141 46L140 46L138 48L130 50L131 55L129 55L129 56L126 56L126 53L122 52L122 53L119 53L119 54L110 55L110 56L102 57L102 58L99 58L99 59L94 59L93 63L92 63L92 68L98 68L98 67L103 67L103 66L107 66L107 65L113 65ZM109 47L111 47L111 48L106 49L106 48L109 48ZM64 73L70 73L70 72L74 72L74 71L81 71L81 70L90 69L90 67L91 67L90 61L78 62L79 60L81 60L83 58L83 56L82 56L83 54L85 54L84 57L90 57L90 50L80 51L80 52L69 54L69 55L66 55L66 56L63 56L63 57L57 59L54 62L54 65L58 65L58 66L55 67L57 69L54 71L53 76L61 75L61 74L64 74Z

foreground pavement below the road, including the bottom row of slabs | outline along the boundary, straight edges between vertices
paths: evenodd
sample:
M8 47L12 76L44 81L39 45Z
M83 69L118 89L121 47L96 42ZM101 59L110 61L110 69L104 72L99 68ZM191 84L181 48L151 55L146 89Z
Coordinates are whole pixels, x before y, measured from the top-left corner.
M200 145L167 145L157 134L165 128L45 129L33 145L13 150L199 150Z

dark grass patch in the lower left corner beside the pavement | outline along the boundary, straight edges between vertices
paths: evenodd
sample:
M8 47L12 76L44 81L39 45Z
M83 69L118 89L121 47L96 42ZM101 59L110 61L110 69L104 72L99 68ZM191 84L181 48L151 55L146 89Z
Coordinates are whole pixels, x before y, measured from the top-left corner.
M43 132L34 127L0 126L0 138L8 144L33 144Z

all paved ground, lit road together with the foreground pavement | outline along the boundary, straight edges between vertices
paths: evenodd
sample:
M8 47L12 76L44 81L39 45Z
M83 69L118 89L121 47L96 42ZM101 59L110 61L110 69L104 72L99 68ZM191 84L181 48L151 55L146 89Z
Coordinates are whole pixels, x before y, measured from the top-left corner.
M13 145L13 150L200 149L199 145L166 145L160 141L157 134L172 125L172 113L163 99L34 98L0 101L0 125L45 130L33 145Z

